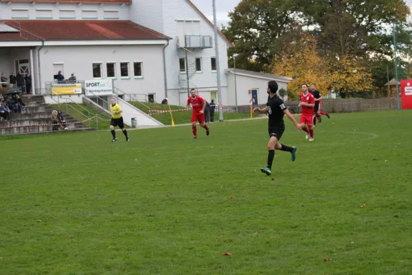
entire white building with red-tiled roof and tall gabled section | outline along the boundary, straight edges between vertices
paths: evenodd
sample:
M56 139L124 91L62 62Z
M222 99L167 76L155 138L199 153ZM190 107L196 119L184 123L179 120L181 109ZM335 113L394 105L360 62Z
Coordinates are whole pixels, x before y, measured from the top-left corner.
M195 88L217 102L214 45L212 23L190 0L0 0L0 72L31 72L36 94L62 71L113 79L139 100L185 105ZM222 103L235 104L220 32L218 47Z

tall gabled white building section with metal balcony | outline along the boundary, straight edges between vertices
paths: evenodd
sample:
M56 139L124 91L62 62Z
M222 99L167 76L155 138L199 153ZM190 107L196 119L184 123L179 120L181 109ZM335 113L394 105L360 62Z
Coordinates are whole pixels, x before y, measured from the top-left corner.
M214 25L190 0L133 0L130 20L172 38L165 50L169 102L184 105L188 87L197 89L207 101L217 102ZM229 104L225 69L227 49L231 46L218 32L220 83L225 104Z

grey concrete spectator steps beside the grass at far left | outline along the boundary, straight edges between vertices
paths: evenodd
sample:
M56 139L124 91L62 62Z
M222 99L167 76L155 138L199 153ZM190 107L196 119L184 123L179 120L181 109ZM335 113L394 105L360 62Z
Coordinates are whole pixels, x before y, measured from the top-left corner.
M52 124L51 117L53 107L45 103L45 98L43 96L21 96L21 100L23 100L25 104L22 113L13 113L11 120L0 121L0 135L95 130L94 128L87 128L87 126L84 126L82 123L77 123L67 124L67 130L52 131L52 125L42 125ZM78 120L71 117L71 115L65 113L65 110L62 111L66 122L78 122Z

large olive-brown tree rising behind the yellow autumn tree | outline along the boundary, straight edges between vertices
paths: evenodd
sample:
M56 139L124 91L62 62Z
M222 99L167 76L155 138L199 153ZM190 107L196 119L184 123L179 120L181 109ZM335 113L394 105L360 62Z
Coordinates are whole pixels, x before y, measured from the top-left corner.
M410 10L403 0L301 0L325 54L367 57L392 55L387 26L404 23ZM410 45L410 44L409 44Z

